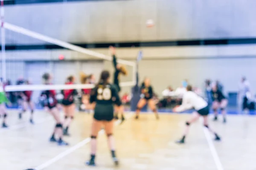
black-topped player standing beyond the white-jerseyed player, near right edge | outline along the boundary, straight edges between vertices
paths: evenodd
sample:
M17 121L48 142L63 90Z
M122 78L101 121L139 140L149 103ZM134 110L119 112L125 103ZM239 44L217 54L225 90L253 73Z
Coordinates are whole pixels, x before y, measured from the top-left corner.
M212 109L214 111L214 121L218 120L218 108L221 110L221 114L223 116L223 123L227 122L226 119L226 107L227 107L227 99L224 94L218 90L216 85L212 86Z

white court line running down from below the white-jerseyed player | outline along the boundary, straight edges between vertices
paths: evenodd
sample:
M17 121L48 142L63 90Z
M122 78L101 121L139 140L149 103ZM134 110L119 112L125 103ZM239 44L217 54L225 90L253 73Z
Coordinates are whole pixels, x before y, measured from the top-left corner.
M201 119L202 120L202 119ZM210 133L209 133L209 130L207 129L207 127L204 127L204 135L207 139L207 142L208 142L208 145L209 145L209 148L210 148L210 151L212 153L212 157L213 157L213 160L215 162L215 165L217 167L217 170L224 170L222 164L221 164L221 160L220 160L220 157L218 156L218 153L217 153L217 150L212 142L212 138L210 136Z

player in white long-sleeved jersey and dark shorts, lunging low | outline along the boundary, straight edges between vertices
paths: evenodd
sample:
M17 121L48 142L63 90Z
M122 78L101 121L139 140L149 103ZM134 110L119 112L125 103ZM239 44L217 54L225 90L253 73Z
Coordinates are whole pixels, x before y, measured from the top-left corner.
M217 133L215 133L208 126L208 114L209 106L207 102L198 94L192 91L192 86L188 85L186 87L187 92L183 95L182 105L177 106L173 109L174 112L182 112L194 108L195 111L192 113L192 118L186 122L186 129L184 131L183 137L177 141L177 143L185 143L186 135L189 131L189 125L199 119L200 116L204 118L204 126L209 129L215 136L215 140L221 140Z

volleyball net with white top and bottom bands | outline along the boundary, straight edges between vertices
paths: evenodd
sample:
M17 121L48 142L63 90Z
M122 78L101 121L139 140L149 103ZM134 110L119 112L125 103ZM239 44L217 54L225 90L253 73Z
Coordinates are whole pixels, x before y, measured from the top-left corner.
M9 82L6 92L38 91L33 94L33 100L37 100L39 91L93 88L93 84L80 81L81 73L93 74L98 82L101 71L109 70L113 79L112 56L108 49L101 49L102 54L97 49L83 48L10 23L4 23L1 29L0 74L5 82ZM128 77L121 77L120 86L135 85L136 63L123 59L117 62L128 70ZM53 85L43 85L41 77L44 73L53 75ZM76 84L64 85L70 75L76 77ZM31 85L16 85L19 79L29 80Z

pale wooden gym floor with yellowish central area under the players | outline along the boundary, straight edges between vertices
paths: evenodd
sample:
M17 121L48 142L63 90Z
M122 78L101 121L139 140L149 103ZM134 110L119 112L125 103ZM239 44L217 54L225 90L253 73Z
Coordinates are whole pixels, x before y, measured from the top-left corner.
M186 144L174 143L182 135L189 114L164 113L160 114L160 120L152 113L141 114L139 120L133 116L127 113L127 120L115 127L119 167L113 166L104 134L98 137L97 166L87 167L84 162L90 155L92 114L76 114L70 127L72 136L64 138L70 146L60 147L48 142L55 125L48 113L36 111L36 124L30 125L29 113L18 120L17 111L9 111L10 127L0 129L0 170L35 168L49 160L52 162L44 170L222 170L215 164L200 121L191 126ZM209 122L222 137L221 142L210 142L217 150L223 170L256 170L256 116L228 115L226 125L221 119ZM84 143L76 149L81 141ZM55 160L67 150L73 152Z

